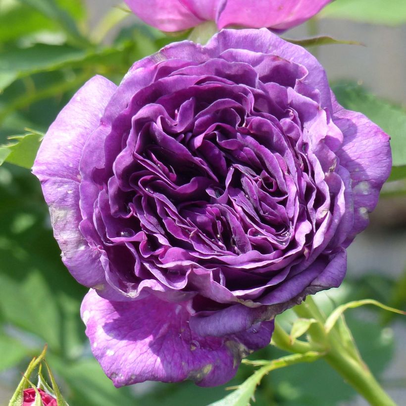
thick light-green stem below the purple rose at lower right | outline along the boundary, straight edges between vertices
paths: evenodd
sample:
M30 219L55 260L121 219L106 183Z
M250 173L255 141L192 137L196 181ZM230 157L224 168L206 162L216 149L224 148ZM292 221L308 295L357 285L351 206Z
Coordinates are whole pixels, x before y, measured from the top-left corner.
M308 328L309 342L292 340L276 322L272 336L274 345L282 350L300 354L308 351L324 352L323 357L326 362L371 405L396 406L363 362L344 318L340 318L327 333L324 327L326 317L310 296L307 296L305 302L294 307L293 310L299 317L317 320Z

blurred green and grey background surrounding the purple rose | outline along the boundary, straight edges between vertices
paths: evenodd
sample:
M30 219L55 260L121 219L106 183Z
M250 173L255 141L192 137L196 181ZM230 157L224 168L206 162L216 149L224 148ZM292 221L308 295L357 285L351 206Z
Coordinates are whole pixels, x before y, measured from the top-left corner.
M0 166L0 405L7 405L21 372L45 342L71 406L203 406L253 371L242 365L231 383L210 390L190 382L115 389L91 355L79 317L86 289L60 261L29 168L41 133L87 79L102 74L119 83L135 60L186 38L166 37L121 7L116 0L0 1L0 144L6 145L0 148L0 162L6 161ZM346 282L316 299L327 312L365 298L405 310L406 2L336 0L283 37L316 35L363 44L310 51L324 65L339 101L393 137L396 166L369 228L348 250ZM293 317L287 311L280 321L289 325ZM364 360L395 401L406 404L406 318L362 308L350 310L347 320ZM282 354L269 346L254 358ZM322 360L271 372L255 399L260 406L366 405Z

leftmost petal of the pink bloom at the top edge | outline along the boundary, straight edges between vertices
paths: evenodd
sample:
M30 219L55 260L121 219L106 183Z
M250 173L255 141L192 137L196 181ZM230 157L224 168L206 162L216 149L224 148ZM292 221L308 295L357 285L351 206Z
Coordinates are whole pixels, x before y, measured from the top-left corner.
M125 0L139 18L162 31L182 31L203 22L181 1L175 0Z

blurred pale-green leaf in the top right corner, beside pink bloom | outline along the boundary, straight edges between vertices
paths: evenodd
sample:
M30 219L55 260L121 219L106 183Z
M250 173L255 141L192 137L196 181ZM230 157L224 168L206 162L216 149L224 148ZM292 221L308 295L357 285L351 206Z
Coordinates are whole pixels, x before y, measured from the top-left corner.
M372 24L400 25L406 23L404 0L335 0L318 16Z

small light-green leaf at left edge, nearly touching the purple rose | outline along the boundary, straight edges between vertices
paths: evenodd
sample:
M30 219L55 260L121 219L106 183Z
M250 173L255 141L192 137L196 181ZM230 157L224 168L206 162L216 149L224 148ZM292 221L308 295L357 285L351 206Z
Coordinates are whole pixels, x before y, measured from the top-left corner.
M43 137L44 134L37 132L9 137L11 143L0 146L0 165L9 162L31 169Z

